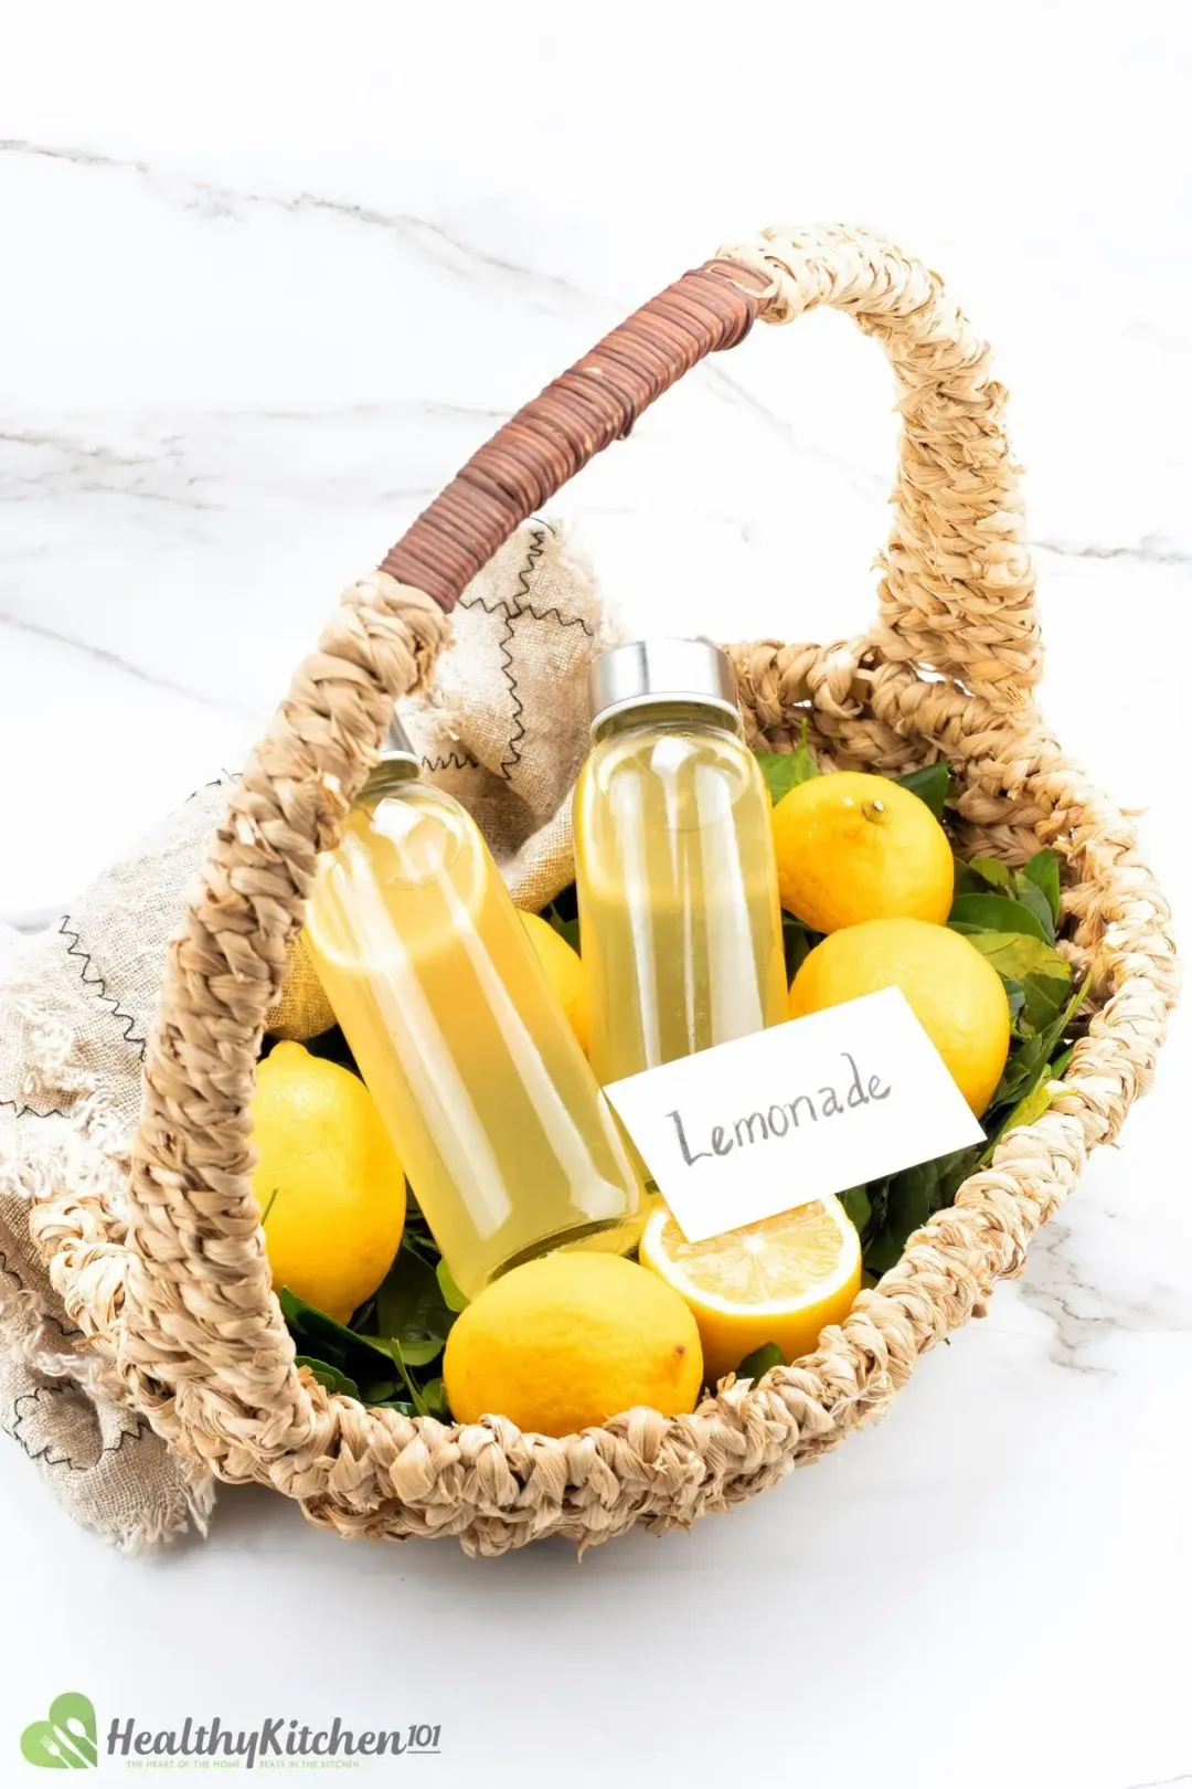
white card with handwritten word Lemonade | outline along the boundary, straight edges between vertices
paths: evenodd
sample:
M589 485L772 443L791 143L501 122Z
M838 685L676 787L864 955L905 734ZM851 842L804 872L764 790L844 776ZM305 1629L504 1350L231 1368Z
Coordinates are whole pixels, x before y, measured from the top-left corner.
M985 1136L897 988L604 1091L688 1242Z

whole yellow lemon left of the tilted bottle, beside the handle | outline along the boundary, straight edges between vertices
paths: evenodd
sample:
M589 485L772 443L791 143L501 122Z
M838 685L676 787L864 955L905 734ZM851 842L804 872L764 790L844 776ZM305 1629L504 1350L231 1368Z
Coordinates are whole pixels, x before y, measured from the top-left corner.
M257 1068L252 1191L273 1286L347 1322L390 1270L406 1175L365 1082L300 1043Z

